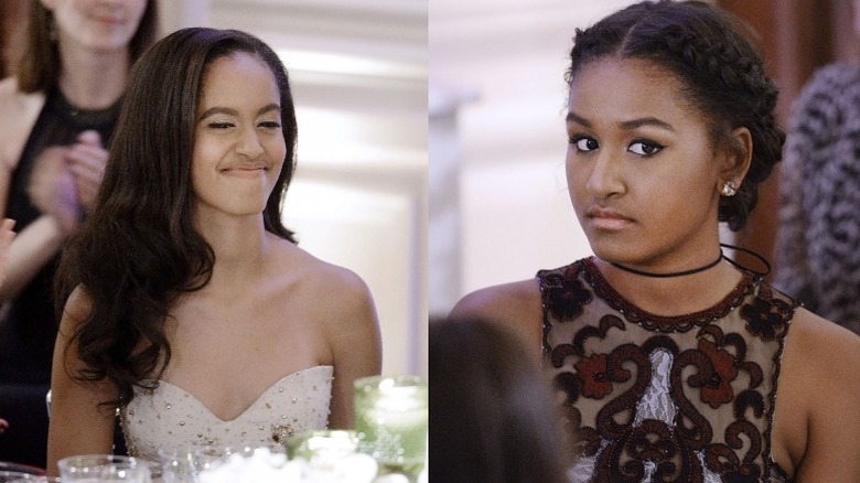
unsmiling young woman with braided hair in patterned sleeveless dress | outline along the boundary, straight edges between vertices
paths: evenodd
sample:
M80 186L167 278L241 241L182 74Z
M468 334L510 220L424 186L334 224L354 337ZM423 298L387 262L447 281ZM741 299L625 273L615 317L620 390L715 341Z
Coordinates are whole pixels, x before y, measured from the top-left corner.
M860 337L721 250L785 139L743 32L699 1L578 30L566 168L594 256L452 311L542 348L572 481L860 481Z

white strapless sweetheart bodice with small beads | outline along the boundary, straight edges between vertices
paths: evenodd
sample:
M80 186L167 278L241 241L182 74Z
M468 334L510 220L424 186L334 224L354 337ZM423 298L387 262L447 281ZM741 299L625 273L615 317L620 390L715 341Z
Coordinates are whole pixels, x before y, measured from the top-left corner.
M270 446L301 431L325 429L333 372L332 366L315 366L293 373L228 421L170 383L136 387L135 398L120 411L128 452L158 461L161 448Z

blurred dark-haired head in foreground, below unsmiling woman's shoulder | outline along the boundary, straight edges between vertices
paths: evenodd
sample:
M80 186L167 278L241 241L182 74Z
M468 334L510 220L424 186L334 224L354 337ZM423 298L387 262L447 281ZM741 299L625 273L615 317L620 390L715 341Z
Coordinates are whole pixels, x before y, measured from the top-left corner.
M572 453L533 351L473 319L433 320L429 340L430 481L568 481Z

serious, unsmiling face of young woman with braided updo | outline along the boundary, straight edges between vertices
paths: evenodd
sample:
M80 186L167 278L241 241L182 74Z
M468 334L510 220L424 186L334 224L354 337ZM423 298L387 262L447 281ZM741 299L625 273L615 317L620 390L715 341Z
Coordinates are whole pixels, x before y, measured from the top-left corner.
M571 82L568 189L600 258L667 271L696 266L718 239L725 163L682 89L653 62L615 57Z

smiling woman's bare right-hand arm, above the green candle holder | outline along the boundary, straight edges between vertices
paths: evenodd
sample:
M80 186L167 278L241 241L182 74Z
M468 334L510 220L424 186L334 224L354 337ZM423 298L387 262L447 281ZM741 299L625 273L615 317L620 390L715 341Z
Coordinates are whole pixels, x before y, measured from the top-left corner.
M353 382L381 372L381 340L376 309L367 286L348 273L347 287L335 298L342 310L327 322L326 336L334 356L329 428L351 429Z

